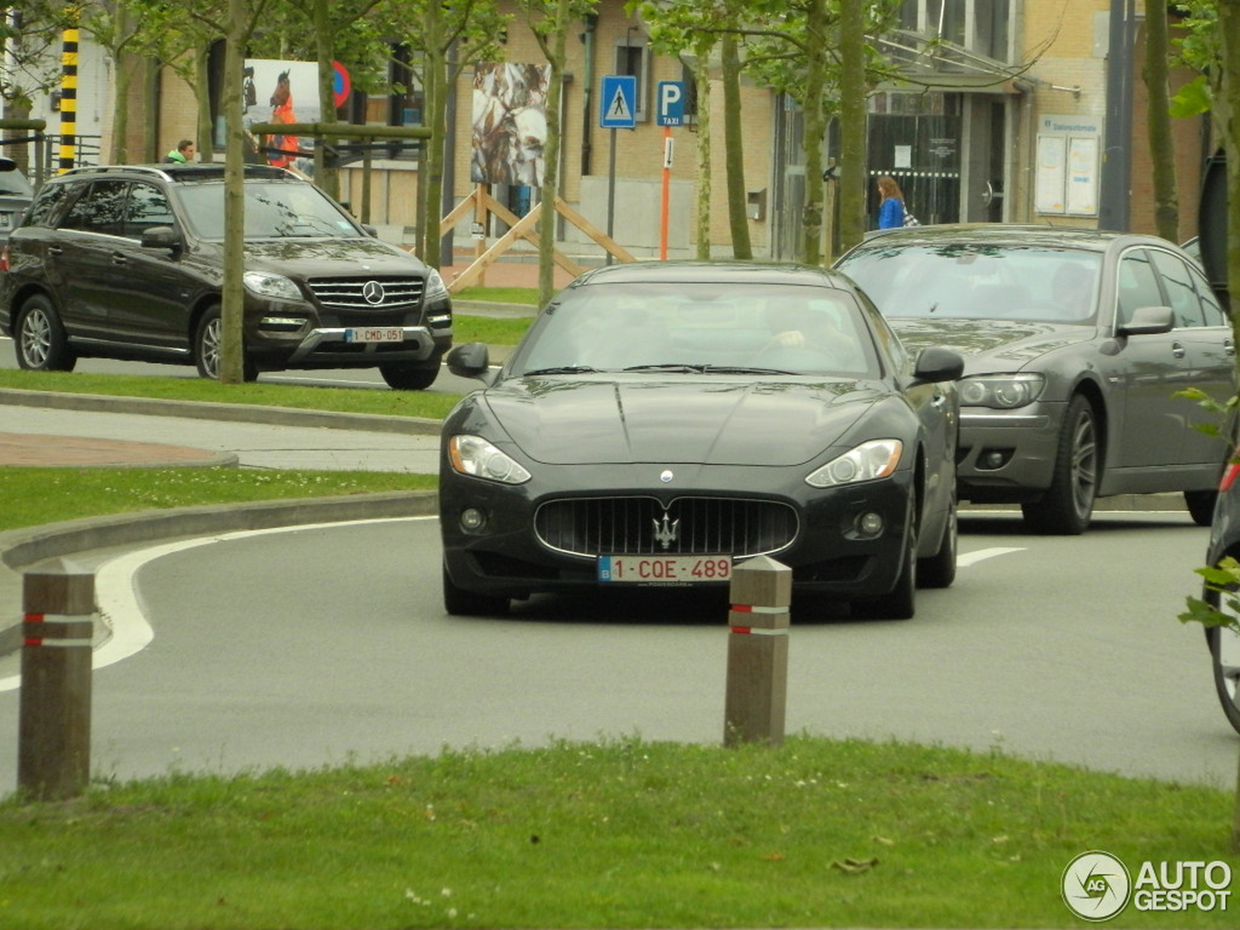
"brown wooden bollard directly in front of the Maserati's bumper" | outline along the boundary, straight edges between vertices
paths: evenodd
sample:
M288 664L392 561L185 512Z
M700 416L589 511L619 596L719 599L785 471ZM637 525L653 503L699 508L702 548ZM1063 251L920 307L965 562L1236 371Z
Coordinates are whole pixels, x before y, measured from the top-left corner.
M732 573L729 596L723 744L782 745L792 569L768 556L749 559Z

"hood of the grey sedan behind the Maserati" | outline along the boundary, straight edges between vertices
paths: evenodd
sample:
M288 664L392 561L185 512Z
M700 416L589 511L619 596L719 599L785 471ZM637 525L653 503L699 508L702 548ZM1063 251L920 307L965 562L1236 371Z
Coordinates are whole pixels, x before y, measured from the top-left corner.
M1087 342L1097 335L1094 326L1013 320L959 320L889 317L900 341L914 350L945 346L965 356L965 370L976 371L985 360L1004 367L1028 365L1064 346Z

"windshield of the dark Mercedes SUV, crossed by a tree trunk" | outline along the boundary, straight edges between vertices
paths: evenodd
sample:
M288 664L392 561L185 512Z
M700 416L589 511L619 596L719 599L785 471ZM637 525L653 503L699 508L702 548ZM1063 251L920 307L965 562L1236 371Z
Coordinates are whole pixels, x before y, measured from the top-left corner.
M200 239L223 242L223 184L186 184L175 187L182 216ZM361 236L335 205L309 184L246 182L246 238L339 239Z

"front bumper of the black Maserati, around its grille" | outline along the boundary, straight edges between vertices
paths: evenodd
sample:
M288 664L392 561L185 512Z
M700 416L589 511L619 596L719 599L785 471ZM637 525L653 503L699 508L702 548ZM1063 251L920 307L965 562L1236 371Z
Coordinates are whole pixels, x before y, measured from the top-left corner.
M632 497L657 498L673 518L678 516L678 502L702 498L790 507L796 513L795 532L786 544L768 554L792 569L794 587L800 591L841 600L874 598L890 591L899 577L911 513L908 472L832 490L806 485L804 469L694 466L693 481L678 481L676 489L652 487L635 480L639 472L649 476L651 470L650 465L539 465L534 480L512 486L463 476L445 466L440 471L440 532L444 564L453 583L477 594L518 599L536 593L642 587L598 579L598 554L619 553L565 552L548 544L536 531L536 517L543 505ZM677 469L678 475L687 471L683 465ZM466 510L481 516L480 528L464 528ZM873 536L862 533L858 526L863 513L878 515L882 531ZM686 537L688 531L689 527L682 527ZM599 537L606 538L608 533ZM737 553L701 551L698 554ZM656 582L650 587L720 584Z

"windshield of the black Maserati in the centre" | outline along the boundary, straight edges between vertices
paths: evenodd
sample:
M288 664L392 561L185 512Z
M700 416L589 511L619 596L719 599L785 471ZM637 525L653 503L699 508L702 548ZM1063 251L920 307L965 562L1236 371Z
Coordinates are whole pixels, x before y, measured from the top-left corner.
M869 330L847 291L734 281L565 290L513 361L518 376L879 372Z

